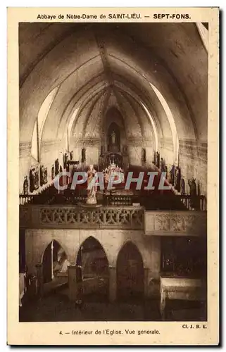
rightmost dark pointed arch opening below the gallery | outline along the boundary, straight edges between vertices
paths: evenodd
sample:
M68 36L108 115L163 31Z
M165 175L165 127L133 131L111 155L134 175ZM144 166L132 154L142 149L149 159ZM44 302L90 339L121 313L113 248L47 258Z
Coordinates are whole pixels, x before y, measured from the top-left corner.
M132 242L127 242L118 253L116 271L118 300L140 300L144 295L144 265Z

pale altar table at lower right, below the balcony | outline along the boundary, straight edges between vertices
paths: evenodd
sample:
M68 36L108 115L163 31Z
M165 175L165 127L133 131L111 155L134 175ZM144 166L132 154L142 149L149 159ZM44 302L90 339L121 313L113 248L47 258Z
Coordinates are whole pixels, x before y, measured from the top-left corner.
M161 277L160 285L160 310L162 319L165 318L166 299L185 300L185 301L204 301L201 279L188 279L184 277L170 278Z

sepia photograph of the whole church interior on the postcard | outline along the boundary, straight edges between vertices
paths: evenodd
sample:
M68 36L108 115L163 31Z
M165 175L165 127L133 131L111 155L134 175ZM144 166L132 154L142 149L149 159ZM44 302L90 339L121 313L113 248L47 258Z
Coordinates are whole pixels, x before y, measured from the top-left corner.
M20 321L206 320L208 25L18 34Z

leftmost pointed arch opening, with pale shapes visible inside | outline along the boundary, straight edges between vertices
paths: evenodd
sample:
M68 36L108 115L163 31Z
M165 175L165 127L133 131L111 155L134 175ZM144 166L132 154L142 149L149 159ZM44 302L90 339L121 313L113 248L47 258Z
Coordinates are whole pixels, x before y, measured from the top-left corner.
M43 258L43 279L44 284L60 280L62 277L68 277L68 256L65 250L55 239L46 247Z

